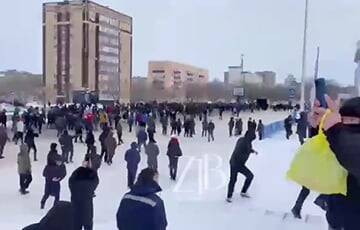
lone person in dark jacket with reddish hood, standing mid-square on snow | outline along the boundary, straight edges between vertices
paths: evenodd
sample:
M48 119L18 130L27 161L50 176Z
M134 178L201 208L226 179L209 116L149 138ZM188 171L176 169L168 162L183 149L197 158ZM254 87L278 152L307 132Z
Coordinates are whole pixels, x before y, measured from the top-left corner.
M166 155L169 157L170 178L176 180L179 157L182 156L182 151L179 140L175 136L172 136L169 141Z

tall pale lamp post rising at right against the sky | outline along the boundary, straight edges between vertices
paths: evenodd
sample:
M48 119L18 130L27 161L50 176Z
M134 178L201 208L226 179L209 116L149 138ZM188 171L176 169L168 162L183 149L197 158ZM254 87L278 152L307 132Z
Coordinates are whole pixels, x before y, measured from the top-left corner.
M300 110L304 111L305 106L305 80L306 80L306 46L307 46L307 27L308 27L308 6L309 0L305 0L305 25L304 25L304 40L303 40L303 56L301 68L301 98Z

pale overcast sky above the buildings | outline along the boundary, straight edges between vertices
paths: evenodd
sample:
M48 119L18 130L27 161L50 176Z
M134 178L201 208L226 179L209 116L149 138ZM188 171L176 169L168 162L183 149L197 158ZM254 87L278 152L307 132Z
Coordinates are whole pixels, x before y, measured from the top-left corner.
M42 70L41 0L3 1L0 70ZM223 79L245 55L248 71L300 78L305 0L97 0L134 19L134 75L149 60L174 60ZM352 84L360 40L359 0L310 0L307 75L321 47L320 75Z

